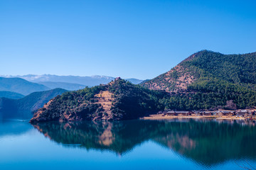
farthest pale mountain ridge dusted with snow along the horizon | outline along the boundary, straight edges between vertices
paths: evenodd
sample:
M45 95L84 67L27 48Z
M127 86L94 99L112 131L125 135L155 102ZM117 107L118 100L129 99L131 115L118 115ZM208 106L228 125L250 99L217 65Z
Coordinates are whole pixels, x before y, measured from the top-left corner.
M52 74L34 75L27 74L23 76L2 76L2 77L19 77L21 79L26 79L27 81L32 81L39 83L41 81L52 81L52 82L64 82L70 84L82 84L85 86L97 86L100 84L108 84L110 81L114 80L114 77L107 76L91 76L91 77L80 77L80 76L57 76ZM143 80L139 79L126 79L131 81L133 84L139 84Z

